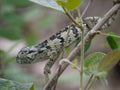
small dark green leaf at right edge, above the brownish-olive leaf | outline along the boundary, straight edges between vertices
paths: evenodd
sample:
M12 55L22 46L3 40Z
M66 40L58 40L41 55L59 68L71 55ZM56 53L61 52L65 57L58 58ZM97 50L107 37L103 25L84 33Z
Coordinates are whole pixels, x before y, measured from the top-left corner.
M120 48L120 36L115 35L114 33L109 33L107 35L108 36L106 37L106 39L111 49Z

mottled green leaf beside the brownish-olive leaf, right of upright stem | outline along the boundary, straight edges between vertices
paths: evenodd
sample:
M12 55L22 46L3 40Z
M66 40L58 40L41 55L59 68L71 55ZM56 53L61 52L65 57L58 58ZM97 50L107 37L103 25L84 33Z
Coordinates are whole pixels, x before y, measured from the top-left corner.
M93 74L97 72L99 62L103 59L105 56L102 52L95 52L93 54L90 54L85 58L84 61L84 68L86 69L86 74Z

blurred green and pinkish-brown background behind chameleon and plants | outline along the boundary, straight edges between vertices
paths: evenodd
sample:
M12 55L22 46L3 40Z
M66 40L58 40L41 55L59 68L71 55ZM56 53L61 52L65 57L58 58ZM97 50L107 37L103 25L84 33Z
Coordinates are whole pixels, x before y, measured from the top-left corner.
M88 0L83 0L80 7L81 12L87 3ZM112 5L112 0L93 0L84 17L102 17ZM0 0L0 77L18 82L33 82L35 90L40 90L40 88L42 90L45 84L43 68L46 61L20 65L16 63L15 57L22 47L42 42L70 23L71 21L63 13L28 0ZM105 32L111 31L120 34L120 13ZM92 41L86 55L96 51L110 51L104 36L98 36ZM109 87L97 84L94 88L97 87L97 90L120 90L120 70L119 66L116 67L108 74ZM54 65L52 74L56 68L57 65ZM78 78L79 72L68 67L60 77L57 90L78 90Z

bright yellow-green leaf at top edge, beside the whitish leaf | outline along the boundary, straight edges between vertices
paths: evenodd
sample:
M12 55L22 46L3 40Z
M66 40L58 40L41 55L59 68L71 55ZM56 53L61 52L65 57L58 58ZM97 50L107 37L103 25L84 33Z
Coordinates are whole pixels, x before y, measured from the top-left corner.
M57 3L70 11L76 9L81 4L81 0L57 0Z

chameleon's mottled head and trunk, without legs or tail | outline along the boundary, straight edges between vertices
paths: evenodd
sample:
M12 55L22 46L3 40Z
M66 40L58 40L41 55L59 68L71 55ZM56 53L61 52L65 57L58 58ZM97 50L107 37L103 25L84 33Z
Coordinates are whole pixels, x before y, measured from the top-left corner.
M67 46L81 36L81 30L75 25L66 27L48 40L32 47L24 47L17 55L16 61L20 64L35 63L46 59L54 59L65 47L68 29L70 28ZM87 31L86 29L85 31Z

